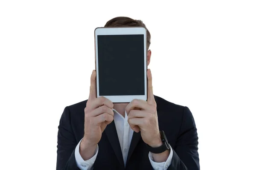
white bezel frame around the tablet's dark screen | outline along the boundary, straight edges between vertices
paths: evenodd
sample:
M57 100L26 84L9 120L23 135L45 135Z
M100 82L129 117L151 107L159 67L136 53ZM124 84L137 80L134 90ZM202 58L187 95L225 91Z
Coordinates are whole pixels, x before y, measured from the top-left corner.
M95 67L96 67L96 92L97 97L99 97L99 67L98 67L98 35L134 35L143 34L144 35L144 84L145 84L145 95L131 95L131 96L104 96L111 100L113 103L127 103L131 102L133 99L147 100L147 38L146 29L143 27L100 27L96 28L94 31L95 37Z

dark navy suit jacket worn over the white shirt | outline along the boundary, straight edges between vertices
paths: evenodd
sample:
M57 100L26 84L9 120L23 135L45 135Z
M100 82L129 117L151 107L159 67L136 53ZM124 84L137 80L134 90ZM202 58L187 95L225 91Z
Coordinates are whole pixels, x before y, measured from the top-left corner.
M198 135L189 108L154 97L159 129L164 130L173 149L172 164L168 170L199 170ZM66 107L61 116L58 126L57 170L79 170L74 150L84 136L86 102ZM98 145L99 152L93 170L153 170L148 159L148 148L140 132L133 134L126 167L114 121L106 127Z

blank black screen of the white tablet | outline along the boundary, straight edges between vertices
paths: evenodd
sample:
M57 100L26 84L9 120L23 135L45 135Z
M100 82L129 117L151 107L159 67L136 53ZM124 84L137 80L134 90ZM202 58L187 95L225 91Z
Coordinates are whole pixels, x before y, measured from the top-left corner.
M145 95L144 35L98 35L99 96Z

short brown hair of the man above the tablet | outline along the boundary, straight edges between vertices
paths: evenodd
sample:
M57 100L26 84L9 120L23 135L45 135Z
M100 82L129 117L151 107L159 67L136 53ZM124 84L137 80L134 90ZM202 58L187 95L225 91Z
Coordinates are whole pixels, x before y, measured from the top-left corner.
M150 38L151 35L146 28L145 24L142 22L142 20L134 20L129 17L115 17L111 20L109 20L104 27L123 27L123 26L139 26L143 27L147 31L147 49L149 48L150 45Z

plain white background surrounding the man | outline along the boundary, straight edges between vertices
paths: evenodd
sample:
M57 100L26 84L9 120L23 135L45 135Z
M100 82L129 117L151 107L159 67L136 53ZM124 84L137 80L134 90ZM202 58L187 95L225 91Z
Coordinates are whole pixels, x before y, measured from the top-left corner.
M1 0L0 169L56 168L64 107L88 97L93 31L117 16L148 27L154 94L192 111L201 169L255 167L255 9L254 0Z

